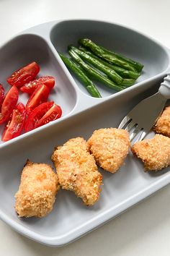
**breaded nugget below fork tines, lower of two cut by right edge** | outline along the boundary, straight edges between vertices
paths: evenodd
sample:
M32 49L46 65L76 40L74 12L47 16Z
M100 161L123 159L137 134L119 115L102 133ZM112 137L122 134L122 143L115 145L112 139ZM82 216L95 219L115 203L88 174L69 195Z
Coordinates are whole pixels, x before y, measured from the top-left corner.
M143 161L146 171L159 171L170 165L170 138L164 135L136 142L132 151Z

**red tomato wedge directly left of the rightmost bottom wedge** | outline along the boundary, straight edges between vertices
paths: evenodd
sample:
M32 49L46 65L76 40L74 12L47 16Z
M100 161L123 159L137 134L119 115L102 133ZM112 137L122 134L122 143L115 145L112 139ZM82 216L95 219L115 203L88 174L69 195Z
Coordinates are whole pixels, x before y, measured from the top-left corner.
M42 103L32 111L32 113L28 116L27 121L25 122L25 132L29 132L37 127L37 122L53 106L53 103L53 101Z

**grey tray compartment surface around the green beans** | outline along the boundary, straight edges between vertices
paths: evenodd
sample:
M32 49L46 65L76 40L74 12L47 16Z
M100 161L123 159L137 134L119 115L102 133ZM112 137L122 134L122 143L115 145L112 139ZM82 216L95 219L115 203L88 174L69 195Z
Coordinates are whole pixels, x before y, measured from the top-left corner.
M101 46L120 52L144 64L142 75L136 84L165 72L169 67L169 54L166 48L145 35L120 25L94 20L66 20L58 22L50 32L53 46L56 51L63 54L67 54L69 44L78 46L79 38L91 38ZM73 77L79 88L86 93L81 82L75 76ZM103 97L115 93L114 90L110 90L96 81L94 83Z

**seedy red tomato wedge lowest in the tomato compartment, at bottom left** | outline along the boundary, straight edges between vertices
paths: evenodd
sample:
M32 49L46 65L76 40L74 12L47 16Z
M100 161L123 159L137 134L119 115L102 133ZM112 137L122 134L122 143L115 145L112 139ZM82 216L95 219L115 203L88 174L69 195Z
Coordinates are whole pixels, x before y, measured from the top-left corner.
M12 118L6 124L2 135L2 141L12 140L21 134L26 116L25 107L22 103L18 103L17 107L12 111Z

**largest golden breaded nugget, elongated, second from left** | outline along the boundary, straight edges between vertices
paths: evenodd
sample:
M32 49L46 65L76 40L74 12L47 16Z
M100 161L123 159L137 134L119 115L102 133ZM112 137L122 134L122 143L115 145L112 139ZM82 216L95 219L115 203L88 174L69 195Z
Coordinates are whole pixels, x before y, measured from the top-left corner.
M97 202L102 175L97 171L86 140L82 137L68 140L54 151L52 161L63 189L75 192L86 205Z

